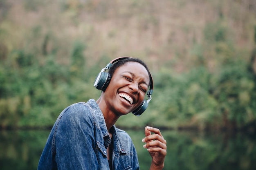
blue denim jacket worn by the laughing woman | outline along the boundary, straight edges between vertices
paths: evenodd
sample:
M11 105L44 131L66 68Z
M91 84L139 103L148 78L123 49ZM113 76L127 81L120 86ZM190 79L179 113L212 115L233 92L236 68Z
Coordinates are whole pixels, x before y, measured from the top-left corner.
M130 136L113 126L113 170L139 170ZM38 170L109 170L110 145L103 114L94 99L65 108L57 118L38 163Z

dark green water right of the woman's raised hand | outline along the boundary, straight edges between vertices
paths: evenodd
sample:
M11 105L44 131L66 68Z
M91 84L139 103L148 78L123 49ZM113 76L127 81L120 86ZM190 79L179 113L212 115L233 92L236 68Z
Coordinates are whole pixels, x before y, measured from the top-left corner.
M163 132L168 142L165 170L255 170L255 135L242 132ZM150 163L139 153L140 165ZM142 168L143 170L146 168Z

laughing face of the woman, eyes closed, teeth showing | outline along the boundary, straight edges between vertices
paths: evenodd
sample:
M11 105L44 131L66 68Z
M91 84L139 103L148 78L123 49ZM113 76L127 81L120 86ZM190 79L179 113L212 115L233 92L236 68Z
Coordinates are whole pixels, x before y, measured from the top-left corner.
M146 68L138 62L120 66L104 92L108 109L116 115L132 112L143 102L149 82Z

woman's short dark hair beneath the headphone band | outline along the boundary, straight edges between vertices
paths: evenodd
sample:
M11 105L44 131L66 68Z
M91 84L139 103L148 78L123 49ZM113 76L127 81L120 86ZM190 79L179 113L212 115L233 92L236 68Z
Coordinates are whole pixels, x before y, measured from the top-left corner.
M115 62L109 69L108 73L110 74L110 76L112 77L112 75L115 73L116 69L119 68L120 66L123 66L124 64L126 64L127 62L137 62L139 64L141 64L142 66L144 66L148 72L148 77L150 79L149 85L150 83L153 82L153 80L151 79L151 74L149 72L148 66L140 59L138 58L124 58L122 60L119 60L117 62Z

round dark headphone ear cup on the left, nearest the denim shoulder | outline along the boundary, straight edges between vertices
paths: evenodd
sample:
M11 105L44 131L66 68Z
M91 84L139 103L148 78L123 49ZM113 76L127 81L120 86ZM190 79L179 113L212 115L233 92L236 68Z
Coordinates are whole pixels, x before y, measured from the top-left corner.
M101 91L105 91L110 82L111 75L106 72L100 72L95 79L94 86Z

